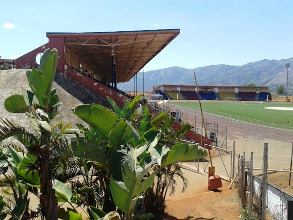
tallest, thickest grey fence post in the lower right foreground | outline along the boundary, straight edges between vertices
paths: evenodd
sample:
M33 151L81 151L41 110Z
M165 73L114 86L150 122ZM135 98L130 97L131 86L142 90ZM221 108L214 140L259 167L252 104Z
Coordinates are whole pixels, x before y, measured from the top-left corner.
M262 188L262 203L261 203L261 219L266 220L267 207L267 188L268 188L268 142L264 144L264 162L263 162L263 188Z

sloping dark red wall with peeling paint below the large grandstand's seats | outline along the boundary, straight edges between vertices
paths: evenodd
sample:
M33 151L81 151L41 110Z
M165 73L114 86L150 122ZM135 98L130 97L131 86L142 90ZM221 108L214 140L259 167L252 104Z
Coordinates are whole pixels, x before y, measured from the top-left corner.
M111 97L117 105L123 107L127 101L127 97L123 94L119 93L118 91L111 89L107 86L105 86L102 83L99 83L86 75L82 75L78 72L76 72L71 67L68 67L65 65L64 69L64 76L82 86L85 88L88 88L92 92L95 92L96 94L102 96L102 97Z

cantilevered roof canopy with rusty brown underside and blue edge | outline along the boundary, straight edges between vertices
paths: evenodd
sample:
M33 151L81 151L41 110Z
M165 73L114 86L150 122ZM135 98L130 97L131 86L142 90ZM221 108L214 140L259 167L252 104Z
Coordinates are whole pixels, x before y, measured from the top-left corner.
M64 38L65 48L94 69L99 78L111 81L111 55L117 82L129 81L180 33L180 29L46 33L48 38Z

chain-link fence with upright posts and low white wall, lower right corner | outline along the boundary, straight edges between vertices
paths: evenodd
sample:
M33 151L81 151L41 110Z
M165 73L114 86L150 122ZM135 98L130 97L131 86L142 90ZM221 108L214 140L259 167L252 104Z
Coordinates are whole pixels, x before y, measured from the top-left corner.
M239 144L239 143L238 143ZM237 144L235 144L237 146ZM242 147L248 152L248 147L252 146L248 143ZM257 146L255 143L253 146ZM269 146L269 147L268 147ZM282 146L280 151L288 151L286 154L276 153L277 147ZM259 146L260 147L260 146ZM235 147L235 149L239 149ZM286 150L287 149L287 150ZM263 143L262 149L255 151L251 155L242 153L239 156L237 164L237 189L238 195L241 198L243 208L247 209L247 219L259 220L291 220L293 219L293 209L289 208L293 202L293 187L289 183L286 185L276 184L280 183L281 176L289 176L291 172L290 162L292 145L284 144L271 146L271 143ZM262 152L261 152L262 151ZM237 151L236 151L237 152ZM286 156L285 160L282 157L279 159L279 164L275 161L281 155ZM289 154L289 158L287 159ZM271 161L270 161L271 160ZM285 161L285 162L284 162ZM282 168L282 169L280 169ZM270 170L274 170L271 174ZM277 172L278 170L278 172ZM255 174L255 173L260 174ZM272 175L272 176L271 176ZM290 175L291 176L291 175Z

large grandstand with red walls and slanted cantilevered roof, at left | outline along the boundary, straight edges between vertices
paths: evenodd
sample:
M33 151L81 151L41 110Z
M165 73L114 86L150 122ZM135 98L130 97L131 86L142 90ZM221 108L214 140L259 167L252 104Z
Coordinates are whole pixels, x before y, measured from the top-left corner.
M42 53L47 48L56 48L59 54L57 72L97 95L104 98L109 96L119 106L124 106L131 96L117 89L117 84L129 81L179 34L180 29L50 32L46 33L47 44L16 60L0 59L0 66L38 68L38 58Z

